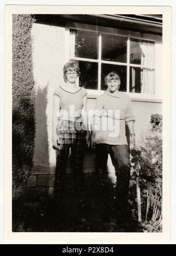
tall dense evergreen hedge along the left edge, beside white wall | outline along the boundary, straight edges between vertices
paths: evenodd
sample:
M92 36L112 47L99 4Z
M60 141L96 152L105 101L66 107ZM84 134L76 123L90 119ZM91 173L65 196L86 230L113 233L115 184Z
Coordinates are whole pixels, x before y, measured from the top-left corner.
M32 168L35 139L35 90L31 15L13 15L12 34L12 187L20 196Z

